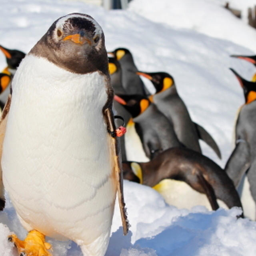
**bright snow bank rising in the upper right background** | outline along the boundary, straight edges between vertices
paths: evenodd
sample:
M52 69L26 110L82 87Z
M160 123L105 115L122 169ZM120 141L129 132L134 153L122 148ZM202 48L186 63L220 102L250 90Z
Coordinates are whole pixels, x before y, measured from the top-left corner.
M256 52L255 29L236 18L230 11L223 8L226 2L230 7L243 7L247 17L246 6L254 7L253 1L222 1L222 0L133 0L129 10L134 11L152 21L166 23L174 28L188 28L208 36L230 40ZM241 3L243 2L243 3ZM234 8L234 7L232 7ZM236 7L235 7L236 8ZM247 21L246 21L247 22Z

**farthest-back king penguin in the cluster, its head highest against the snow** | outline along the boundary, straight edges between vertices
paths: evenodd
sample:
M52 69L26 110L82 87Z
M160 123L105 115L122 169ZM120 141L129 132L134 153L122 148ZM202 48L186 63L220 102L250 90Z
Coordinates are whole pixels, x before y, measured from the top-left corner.
M117 48L108 54L114 56L119 61L122 68L122 86L126 94L148 95L141 78L135 74L138 71L134 64L132 53L126 48Z

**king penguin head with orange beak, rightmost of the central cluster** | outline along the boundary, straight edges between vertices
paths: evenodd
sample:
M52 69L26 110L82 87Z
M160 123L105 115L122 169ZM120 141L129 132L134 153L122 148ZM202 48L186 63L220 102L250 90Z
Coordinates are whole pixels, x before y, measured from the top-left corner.
M156 88L156 93L163 92L174 85L173 77L165 72L147 73L138 71L136 74L148 78Z

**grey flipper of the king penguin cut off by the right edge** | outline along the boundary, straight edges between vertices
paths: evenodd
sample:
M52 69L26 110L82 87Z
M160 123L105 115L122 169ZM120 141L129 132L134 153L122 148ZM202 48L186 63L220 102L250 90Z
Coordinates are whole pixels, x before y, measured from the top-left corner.
M237 140L236 147L229 157L225 172L237 188L244 173L251 165L250 145L245 140Z

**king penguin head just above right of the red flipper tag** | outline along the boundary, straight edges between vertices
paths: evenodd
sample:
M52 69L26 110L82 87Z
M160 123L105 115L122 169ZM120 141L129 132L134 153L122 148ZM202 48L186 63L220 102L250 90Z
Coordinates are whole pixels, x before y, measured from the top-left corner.
M139 94L134 95L115 95L114 100L122 104L133 118L142 114L151 102L146 96Z

